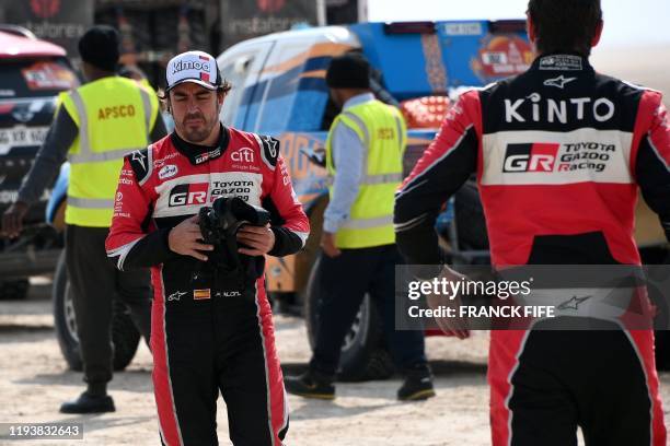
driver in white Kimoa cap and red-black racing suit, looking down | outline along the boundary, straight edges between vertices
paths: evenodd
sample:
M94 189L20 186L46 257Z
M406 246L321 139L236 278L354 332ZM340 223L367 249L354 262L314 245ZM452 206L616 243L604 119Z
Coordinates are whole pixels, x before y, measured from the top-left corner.
M201 51L166 69L175 131L125 159L107 255L117 268L151 267L153 386L165 445L215 445L219 391L234 445L281 445L288 407L265 292L264 255L302 248L309 222L278 141L223 126L231 85ZM198 212L221 196L273 215L236 234L243 268L206 244ZM233 237L234 238L234 237ZM233 253L234 254L234 253Z

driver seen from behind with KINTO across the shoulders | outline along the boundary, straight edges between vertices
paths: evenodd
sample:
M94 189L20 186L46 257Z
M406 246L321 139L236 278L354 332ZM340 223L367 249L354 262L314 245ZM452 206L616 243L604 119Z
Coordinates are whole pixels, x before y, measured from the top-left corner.
M599 0L530 0L530 69L463 94L397 191L396 239L412 263L441 262L436 215L471 174L496 268L639 265L638 189L670 236L661 94L593 70L602 26ZM587 446L666 445L652 331L490 337L494 446L577 445L577 426Z

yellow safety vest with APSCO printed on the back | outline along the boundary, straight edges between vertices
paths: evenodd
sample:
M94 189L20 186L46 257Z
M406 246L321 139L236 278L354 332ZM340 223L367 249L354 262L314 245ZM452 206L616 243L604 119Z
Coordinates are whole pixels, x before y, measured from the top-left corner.
M123 159L147 146L158 97L130 79L108 77L61 93L60 101L79 128L68 152L66 223L108 227Z

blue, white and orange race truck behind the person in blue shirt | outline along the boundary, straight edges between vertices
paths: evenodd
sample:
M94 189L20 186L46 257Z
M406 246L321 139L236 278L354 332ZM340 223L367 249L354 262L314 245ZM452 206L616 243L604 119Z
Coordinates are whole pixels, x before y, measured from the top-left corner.
M294 302L307 319L313 347L319 329L319 240L327 204L325 169L310 161L325 145L337 115L325 84L331 58L361 52L370 61L378 98L397 105L408 124L408 173L435 137L449 98L525 71L532 62L523 21L362 23L272 34L240 43L217 61L230 92L221 113L233 127L280 140L296 193L310 218L311 234L296 256L268 258L270 295ZM453 262L487 263L488 242L474 181L446 204L437 231ZM637 240L647 259L667 256L655 215L639 200ZM666 355L667 356L667 355ZM393 367L380 319L366 297L343 347L340 379L383 378Z

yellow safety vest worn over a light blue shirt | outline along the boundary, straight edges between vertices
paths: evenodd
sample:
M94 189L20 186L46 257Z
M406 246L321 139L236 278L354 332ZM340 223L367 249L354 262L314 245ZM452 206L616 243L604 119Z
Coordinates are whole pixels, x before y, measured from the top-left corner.
M363 165L358 196L349 219L335 236L338 248L368 248L395 243L393 202L403 179L403 153L407 128L401 113L379 101L349 107L339 114L326 140L326 168L334 178L332 138L338 124L349 127L362 141ZM331 198L333 186L328 187Z

